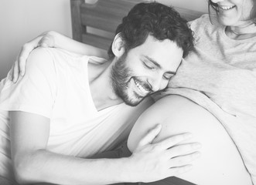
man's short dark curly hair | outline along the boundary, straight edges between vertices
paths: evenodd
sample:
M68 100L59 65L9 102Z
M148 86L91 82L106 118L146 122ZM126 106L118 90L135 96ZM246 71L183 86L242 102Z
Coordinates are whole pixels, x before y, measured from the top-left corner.
M125 42L125 52L142 45L148 35L162 41L169 39L183 49L183 57L193 49L193 32L187 21L172 7L158 2L143 2L131 8L116 29ZM108 55L114 58L111 47Z

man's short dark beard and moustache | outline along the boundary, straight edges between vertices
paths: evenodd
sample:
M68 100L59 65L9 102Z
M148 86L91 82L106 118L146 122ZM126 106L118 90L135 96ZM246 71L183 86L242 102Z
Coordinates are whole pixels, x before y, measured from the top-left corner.
M111 83L114 93L121 98L125 104L128 106L137 106L139 103L145 99L146 96L139 96L137 93L132 95L128 94L128 84L131 82L131 79L134 79L141 84L144 84L145 89L148 89L149 92L152 91L147 83L142 82L135 76L132 76L131 69L125 65L126 54L122 55L120 59L112 66L111 69Z

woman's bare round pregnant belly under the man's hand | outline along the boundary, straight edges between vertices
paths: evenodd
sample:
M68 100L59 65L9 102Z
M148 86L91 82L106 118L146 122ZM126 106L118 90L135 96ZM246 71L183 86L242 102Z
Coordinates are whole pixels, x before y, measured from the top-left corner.
M156 123L162 124L157 140L178 133L193 133L186 142L202 144L201 157L193 162L193 170L179 178L203 185L251 185L251 177L227 131L206 109L182 96L166 96L159 99L142 114L135 123L128 139L132 151L148 129ZM154 184L154 183L151 183ZM169 184L162 180L155 184Z

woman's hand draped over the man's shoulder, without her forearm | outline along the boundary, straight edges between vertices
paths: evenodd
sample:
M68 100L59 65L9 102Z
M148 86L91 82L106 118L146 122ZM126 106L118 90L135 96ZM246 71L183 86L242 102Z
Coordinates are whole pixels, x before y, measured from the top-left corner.
M42 47L53 47L54 46L54 37L52 34L53 31L43 32L43 34L39 35L35 39L27 42L22 46L22 50L19 52L17 60L11 69L11 80L12 82L17 82L20 76L24 76L26 72L26 60L29 58L30 52L33 49L36 49L39 46Z

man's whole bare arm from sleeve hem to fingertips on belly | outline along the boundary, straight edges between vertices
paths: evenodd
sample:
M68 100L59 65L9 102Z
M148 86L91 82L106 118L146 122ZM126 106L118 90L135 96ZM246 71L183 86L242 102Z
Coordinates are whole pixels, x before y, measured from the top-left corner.
M46 149L49 119L33 113L10 113L11 150L16 180L19 183L109 184L121 182L152 182L184 173L188 161L176 161L183 150L173 150L187 134L173 136L151 144L161 130L156 126L138 143L128 158L81 159L64 156Z

